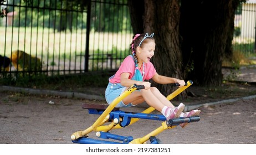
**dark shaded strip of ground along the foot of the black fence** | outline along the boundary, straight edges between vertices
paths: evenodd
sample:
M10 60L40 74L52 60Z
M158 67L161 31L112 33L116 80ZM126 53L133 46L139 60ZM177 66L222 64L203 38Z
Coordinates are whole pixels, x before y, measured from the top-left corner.
M22 73L19 73L18 78L15 78L15 76L2 77L0 79L0 84L34 89L83 91L83 87L86 86L105 87L110 75L112 75L112 73L109 72L54 76L47 76L44 74L24 76Z

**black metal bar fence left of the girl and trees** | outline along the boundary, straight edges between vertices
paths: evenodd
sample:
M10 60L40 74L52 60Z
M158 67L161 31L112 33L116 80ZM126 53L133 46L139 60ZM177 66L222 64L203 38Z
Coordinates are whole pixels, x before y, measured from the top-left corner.
M84 6L83 6L84 7ZM132 38L127 1L6 1L1 4L2 74L79 74L119 67Z

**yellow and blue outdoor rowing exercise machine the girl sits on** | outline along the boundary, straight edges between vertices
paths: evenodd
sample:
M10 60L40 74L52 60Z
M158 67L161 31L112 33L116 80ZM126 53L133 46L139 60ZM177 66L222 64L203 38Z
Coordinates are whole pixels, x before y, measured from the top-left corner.
M177 90L173 91L172 94L167 96L168 100L173 99L182 91L187 89L187 87L191 86L193 82L191 80L186 82L186 85L183 87L179 87ZM178 84L175 84L178 86ZM180 125L180 123L191 123L197 122L200 120L199 116L191 116L191 117L179 117L173 118L171 120L166 120L166 117L157 114L151 114L152 111L155 110L153 107L149 107L141 113L135 112L127 112L121 111L119 108L115 106L123 100L126 96L130 95L135 90L144 89L143 85L132 85L124 91L119 97L117 97L110 105L102 105L102 104L83 104L82 107L89 110L90 114L100 115L99 118L93 123L92 126L86 128L84 131L77 131L71 135L71 140L74 143L84 143L84 144L143 144L150 141L151 144L160 143L160 139L156 138L156 135L165 131L167 129L172 129ZM145 135L141 138L134 139L132 136L120 136L114 133L110 133L110 130L124 128L126 126L130 126L133 123L139 121L140 119L144 120L156 120L161 121L161 126ZM89 138L89 133L96 132L95 138ZM107 139L107 140L104 140Z

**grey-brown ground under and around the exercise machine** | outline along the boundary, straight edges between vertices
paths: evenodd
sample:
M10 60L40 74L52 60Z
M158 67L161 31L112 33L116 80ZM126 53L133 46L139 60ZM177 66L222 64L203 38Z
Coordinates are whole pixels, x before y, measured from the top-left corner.
M199 122L186 128L177 126L156 137L162 143L256 143L256 86L253 84L226 84L222 87L203 88L191 86L185 105L198 105L202 112ZM96 91L104 91L98 88ZM192 97L193 96L193 97ZM249 96L248 98L241 98ZM237 99L229 102L227 99ZM51 102L50 102L51 101ZM0 143L72 143L72 133L91 126L99 115L90 115L81 108L84 102L96 100L74 99L52 95L33 95L21 92L0 92ZM208 104L206 104L208 103ZM144 106L121 108L141 112ZM158 113L155 111L154 113ZM160 121L140 120L131 126L111 131L122 136L139 138L161 126ZM95 137L94 132L90 133Z

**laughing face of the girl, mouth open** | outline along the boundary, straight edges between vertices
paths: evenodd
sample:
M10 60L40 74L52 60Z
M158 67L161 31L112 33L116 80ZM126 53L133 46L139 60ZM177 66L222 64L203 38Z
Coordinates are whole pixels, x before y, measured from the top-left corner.
M149 40L149 42L144 43L143 47L137 47L136 56L138 58L139 63L148 63L152 56L154 55L156 43L153 40Z

